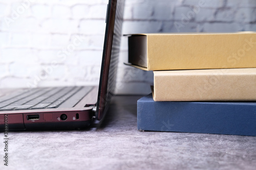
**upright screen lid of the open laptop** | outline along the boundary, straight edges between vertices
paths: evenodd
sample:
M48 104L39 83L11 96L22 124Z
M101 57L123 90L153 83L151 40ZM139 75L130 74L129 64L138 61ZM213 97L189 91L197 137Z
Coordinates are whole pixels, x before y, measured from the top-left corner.
M116 85L121 41L124 0L110 0L101 63L96 118L100 120L108 109Z

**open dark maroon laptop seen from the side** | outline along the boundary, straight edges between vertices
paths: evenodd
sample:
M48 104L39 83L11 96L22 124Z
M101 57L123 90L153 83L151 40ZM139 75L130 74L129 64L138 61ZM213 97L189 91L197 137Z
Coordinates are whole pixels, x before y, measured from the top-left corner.
M0 130L77 130L102 120L116 84L123 8L124 0L109 0L98 87L2 89Z

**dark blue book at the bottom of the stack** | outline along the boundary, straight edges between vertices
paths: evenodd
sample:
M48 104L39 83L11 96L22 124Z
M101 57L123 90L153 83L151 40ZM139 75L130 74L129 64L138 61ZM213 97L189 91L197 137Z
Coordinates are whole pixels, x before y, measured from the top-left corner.
M255 102L137 102L138 130L256 136Z

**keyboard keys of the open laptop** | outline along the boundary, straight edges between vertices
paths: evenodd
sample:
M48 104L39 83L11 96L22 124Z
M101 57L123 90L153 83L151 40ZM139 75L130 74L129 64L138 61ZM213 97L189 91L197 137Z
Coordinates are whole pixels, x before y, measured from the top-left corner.
M0 111L57 108L83 87L35 88L0 98Z

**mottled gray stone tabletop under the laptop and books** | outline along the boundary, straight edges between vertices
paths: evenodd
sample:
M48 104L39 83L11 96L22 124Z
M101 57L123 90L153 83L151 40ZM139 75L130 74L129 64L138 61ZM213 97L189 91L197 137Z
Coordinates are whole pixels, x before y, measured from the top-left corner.
M256 169L256 137L138 131L139 98L115 96L100 128L10 132L0 169Z

